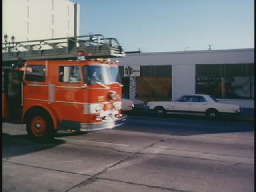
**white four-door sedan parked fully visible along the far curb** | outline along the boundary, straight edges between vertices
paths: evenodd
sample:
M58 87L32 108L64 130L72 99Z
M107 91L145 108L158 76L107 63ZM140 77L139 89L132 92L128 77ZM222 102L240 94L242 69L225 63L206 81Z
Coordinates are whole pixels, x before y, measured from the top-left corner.
M216 117L220 114L240 114L242 108L238 105L220 103L210 95L184 95L176 101L150 101L147 104L158 116L170 114L193 114Z

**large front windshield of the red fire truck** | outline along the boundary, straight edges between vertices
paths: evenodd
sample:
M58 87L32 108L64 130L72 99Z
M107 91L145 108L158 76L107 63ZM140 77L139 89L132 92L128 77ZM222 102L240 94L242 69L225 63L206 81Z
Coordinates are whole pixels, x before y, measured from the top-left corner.
M84 66L86 84L112 84L120 82L118 67L107 65Z

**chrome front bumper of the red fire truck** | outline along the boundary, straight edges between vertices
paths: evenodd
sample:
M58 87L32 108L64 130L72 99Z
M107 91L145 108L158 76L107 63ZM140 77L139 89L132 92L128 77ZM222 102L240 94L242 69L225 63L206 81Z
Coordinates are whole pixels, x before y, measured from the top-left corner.
M80 123L80 131L98 131L103 129L112 129L114 127L120 126L126 122L127 116L122 116L121 118L115 118L112 120L103 120L99 123Z

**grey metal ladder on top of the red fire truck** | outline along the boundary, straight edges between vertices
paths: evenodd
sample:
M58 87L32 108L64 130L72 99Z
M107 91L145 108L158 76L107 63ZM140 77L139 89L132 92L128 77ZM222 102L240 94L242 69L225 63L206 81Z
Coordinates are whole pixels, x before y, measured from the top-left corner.
M66 38L9 42L2 44L2 61L75 59L84 52L86 59L124 57L123 48L116 38L104 38L101 34Z

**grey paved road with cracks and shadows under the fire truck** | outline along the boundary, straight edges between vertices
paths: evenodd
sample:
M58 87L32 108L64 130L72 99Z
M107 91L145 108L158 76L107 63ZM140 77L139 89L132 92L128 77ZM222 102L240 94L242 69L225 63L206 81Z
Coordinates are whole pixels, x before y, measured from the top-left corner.
M254 192L254 122L129 116L47 144L2 132L4 192Z

